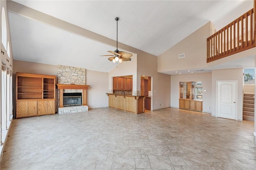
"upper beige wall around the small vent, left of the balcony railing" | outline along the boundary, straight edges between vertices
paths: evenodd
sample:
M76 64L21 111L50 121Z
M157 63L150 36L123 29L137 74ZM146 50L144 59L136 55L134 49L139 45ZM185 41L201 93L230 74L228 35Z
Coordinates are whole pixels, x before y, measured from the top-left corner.
M158 72L206 67L206 38L210 36L210 29L211 23L208 22L160 55ZM182 53L185 58L178 59Z

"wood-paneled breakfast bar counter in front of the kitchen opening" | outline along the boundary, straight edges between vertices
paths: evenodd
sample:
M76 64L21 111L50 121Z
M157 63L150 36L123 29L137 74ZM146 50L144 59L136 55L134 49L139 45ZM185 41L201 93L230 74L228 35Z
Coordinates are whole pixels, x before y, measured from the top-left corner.
M130 113L144 113L144 98L146 96L132 96L125 94L108 95L108 107L130 112Z

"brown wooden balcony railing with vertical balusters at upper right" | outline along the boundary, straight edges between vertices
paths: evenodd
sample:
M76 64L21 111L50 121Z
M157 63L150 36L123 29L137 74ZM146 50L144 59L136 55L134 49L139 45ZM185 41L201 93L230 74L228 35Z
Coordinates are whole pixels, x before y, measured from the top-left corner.
M207 63L255 47L254 8L207 38ZM254 33L254 35L253 35Z

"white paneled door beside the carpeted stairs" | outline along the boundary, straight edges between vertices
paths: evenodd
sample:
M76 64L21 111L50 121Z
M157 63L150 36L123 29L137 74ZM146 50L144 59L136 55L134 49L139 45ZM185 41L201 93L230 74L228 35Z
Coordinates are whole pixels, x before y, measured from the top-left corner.
M236 120L236 81L217 82L217 117Z

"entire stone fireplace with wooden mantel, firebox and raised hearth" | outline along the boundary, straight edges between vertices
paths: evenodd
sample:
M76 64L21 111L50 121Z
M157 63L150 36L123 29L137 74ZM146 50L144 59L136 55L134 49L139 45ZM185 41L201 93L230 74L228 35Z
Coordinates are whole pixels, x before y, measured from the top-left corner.
M86 69L58 65L58 114L88 111Z

